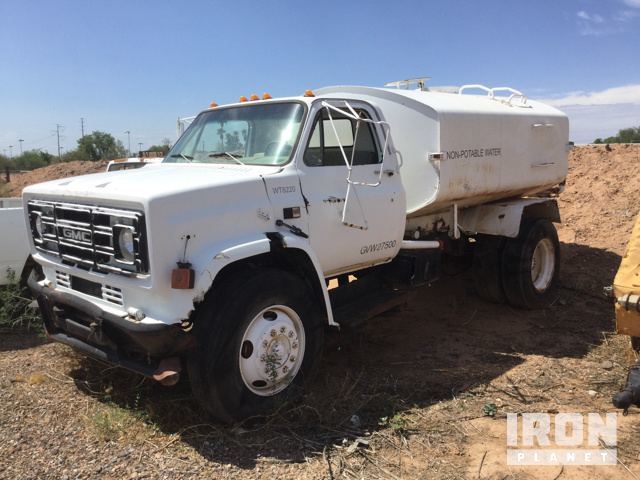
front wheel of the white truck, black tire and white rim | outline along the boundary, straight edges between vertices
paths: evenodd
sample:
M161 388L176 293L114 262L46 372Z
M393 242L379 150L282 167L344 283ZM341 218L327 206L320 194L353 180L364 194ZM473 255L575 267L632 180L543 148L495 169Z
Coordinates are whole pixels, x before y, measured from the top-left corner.
M189 377L200 404L228 422L267 414L301 393L324 323L305 282L285 271L251 272L225 292L198 312Z

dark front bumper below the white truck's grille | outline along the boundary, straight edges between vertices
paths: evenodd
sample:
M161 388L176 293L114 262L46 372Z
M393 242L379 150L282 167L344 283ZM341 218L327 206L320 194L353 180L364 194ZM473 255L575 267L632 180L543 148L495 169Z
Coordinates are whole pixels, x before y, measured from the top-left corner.
M76 350L145 376L160 360L188 352L192 334L180 325L127 320L75 295L53 290L29 278L48 336Z

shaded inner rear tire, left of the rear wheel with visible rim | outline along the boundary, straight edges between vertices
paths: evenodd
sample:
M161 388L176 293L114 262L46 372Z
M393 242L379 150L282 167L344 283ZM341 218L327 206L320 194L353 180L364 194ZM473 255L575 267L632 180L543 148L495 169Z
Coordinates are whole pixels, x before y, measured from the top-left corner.
M502 288L502 251L506 239L494 235L478 235L473 251L473 284L480 298L492 303L504 303Z

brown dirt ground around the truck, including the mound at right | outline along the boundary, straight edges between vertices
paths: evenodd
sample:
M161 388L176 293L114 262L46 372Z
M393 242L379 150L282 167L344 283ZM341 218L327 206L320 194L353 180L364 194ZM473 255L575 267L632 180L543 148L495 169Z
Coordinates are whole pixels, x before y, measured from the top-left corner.
M607 467L506 465L510 412L614 412L634 361L610 285L640 210L640 146L573 150L561 290L541 311L477 298L467 272L332 335L301 403L211 424L164 389L30 334L0 336L2 478L638 479L640 410ZM486 416L486 413L495 413Z

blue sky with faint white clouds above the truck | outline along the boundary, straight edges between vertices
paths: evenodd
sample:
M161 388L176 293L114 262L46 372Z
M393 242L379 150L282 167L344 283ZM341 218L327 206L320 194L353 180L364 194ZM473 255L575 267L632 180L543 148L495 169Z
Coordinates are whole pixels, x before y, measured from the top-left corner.
M640 126L640 0L0 0L0 151L106 131L147 148L241 95L328 85L510 86L571 140ZM9 145L13 145L9 149Z

